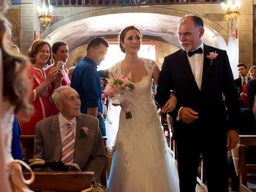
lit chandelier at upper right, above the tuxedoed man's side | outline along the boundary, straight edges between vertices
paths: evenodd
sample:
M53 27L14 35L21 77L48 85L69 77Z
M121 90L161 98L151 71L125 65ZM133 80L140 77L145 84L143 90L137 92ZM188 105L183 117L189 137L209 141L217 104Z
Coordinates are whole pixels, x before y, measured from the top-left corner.
M236 18L240 16L240 6L241 3L238 0L228 0L225 3L222 3L223 15L227 22L231 22L231 25L233 25Z

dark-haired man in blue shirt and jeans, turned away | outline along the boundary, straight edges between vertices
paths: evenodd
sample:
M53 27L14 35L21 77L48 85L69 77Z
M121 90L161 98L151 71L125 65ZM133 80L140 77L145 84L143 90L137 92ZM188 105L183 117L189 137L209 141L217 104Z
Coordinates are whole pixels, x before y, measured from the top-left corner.
M80 96L81 113L98 118L102 136L106 136L106 128L102 116L102 92L97 68L105 59L108 47L108 42L103 37L90 40L86 48L86 56L78 63L72 73L70 85Z

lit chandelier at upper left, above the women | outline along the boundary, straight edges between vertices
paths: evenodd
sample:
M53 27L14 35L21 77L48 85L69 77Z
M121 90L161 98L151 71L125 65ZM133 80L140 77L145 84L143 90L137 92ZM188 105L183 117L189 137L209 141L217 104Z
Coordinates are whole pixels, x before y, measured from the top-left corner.
M40 21L44 29L47 29L53 21L53 8L50 5L50 0L48 0L48 6L45 5L45 0L43 0L42 8L38 6L37 10L38 20Z

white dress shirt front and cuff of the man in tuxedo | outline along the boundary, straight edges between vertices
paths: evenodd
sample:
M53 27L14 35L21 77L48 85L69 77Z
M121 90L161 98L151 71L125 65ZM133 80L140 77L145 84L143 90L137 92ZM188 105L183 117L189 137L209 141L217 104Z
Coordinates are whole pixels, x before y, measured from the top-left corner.
M186 52L187 52L187 58L188 58L188 62L189 62L191 71L192 71L192 73L194 75L194 78L196 80L196 84L197 84L199 90L201 90L203 68L204 68L204 43L202 42L198 48L202 48L202 50L203 50L202 54L196 53L196 54L189 57L188 56L188 51L186 51ZM182 108L183 107L181 107L178 111L178 114L177 114L177 117L176 117L177 121L180 119L180 110Z

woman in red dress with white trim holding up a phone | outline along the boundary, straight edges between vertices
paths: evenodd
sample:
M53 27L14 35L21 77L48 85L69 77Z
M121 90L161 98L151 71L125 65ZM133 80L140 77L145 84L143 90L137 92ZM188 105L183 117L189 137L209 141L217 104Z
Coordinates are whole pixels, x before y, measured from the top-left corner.
M32 66L28 70L28 77L32 83L30 102L33 103L35 112L29 122L20 118L18 120L23 135L34 135L36 123L52 115L52 92L58 86L52 86L51 84L54 80L60 82L63 73L56 67L51 68L47 75L44 72L44 66L51 64L52 58L51 46L45 40L35 41L30 46L27 56L30 57L32 62Z

